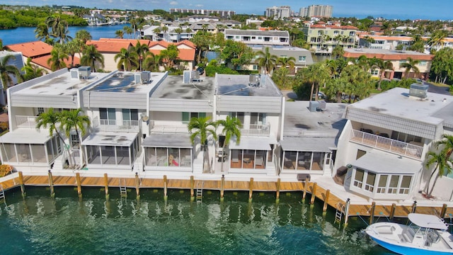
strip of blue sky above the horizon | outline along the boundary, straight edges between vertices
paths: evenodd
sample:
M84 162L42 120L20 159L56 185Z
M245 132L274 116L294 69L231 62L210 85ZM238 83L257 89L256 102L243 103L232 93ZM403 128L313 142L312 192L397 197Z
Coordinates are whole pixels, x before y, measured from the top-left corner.
M328 4L333 6L333 16L365 18L366 16L383 16L401 19L453 19L452 0L3 0L1 4L13 5L76 5L89 8L120 8L154 10L157 8L168 11L169 8L205 8L236 11L236 13L263 14L266 7L291 6L299 12L299 8L311 4Z

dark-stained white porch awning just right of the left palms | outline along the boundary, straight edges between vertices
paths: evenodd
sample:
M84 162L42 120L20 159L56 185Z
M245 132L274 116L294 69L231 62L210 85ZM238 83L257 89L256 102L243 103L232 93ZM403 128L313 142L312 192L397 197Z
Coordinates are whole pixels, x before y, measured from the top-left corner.
M138 132L96 132L82 141L82 145L126 146L129 147Z

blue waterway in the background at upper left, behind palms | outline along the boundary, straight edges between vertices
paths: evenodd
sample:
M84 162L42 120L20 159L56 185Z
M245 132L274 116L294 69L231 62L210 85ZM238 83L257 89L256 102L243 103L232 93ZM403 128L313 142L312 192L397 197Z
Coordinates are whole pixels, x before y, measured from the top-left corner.
M78 30L84 29L87 30L93 40L99 40L99 38L115 38L115 31L122 30L123 25L115 26L72 26L69 27L69 35L74 38ZM0 30L0 39L3 40L3 45L11 45L20 42L33 42L36 39L35 37L35 28L16 28L16 29L5 29ZM134 35L125 35L125 38L132 38Z

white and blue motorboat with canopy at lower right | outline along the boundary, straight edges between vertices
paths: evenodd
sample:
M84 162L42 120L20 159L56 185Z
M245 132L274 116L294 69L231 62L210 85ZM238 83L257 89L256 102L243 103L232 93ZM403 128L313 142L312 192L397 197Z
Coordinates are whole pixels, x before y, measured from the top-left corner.
M377 244L397 254L453 254L453 236L444 220L434 215L410 213L410 225L377 222L365 232Z

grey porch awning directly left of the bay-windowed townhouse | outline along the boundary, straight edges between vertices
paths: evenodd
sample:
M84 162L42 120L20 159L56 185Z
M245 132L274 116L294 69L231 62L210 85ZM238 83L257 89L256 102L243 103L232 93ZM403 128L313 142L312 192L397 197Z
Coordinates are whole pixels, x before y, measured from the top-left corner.
M284 137L280 146L284 151L331 152L336 148L336 137Z

